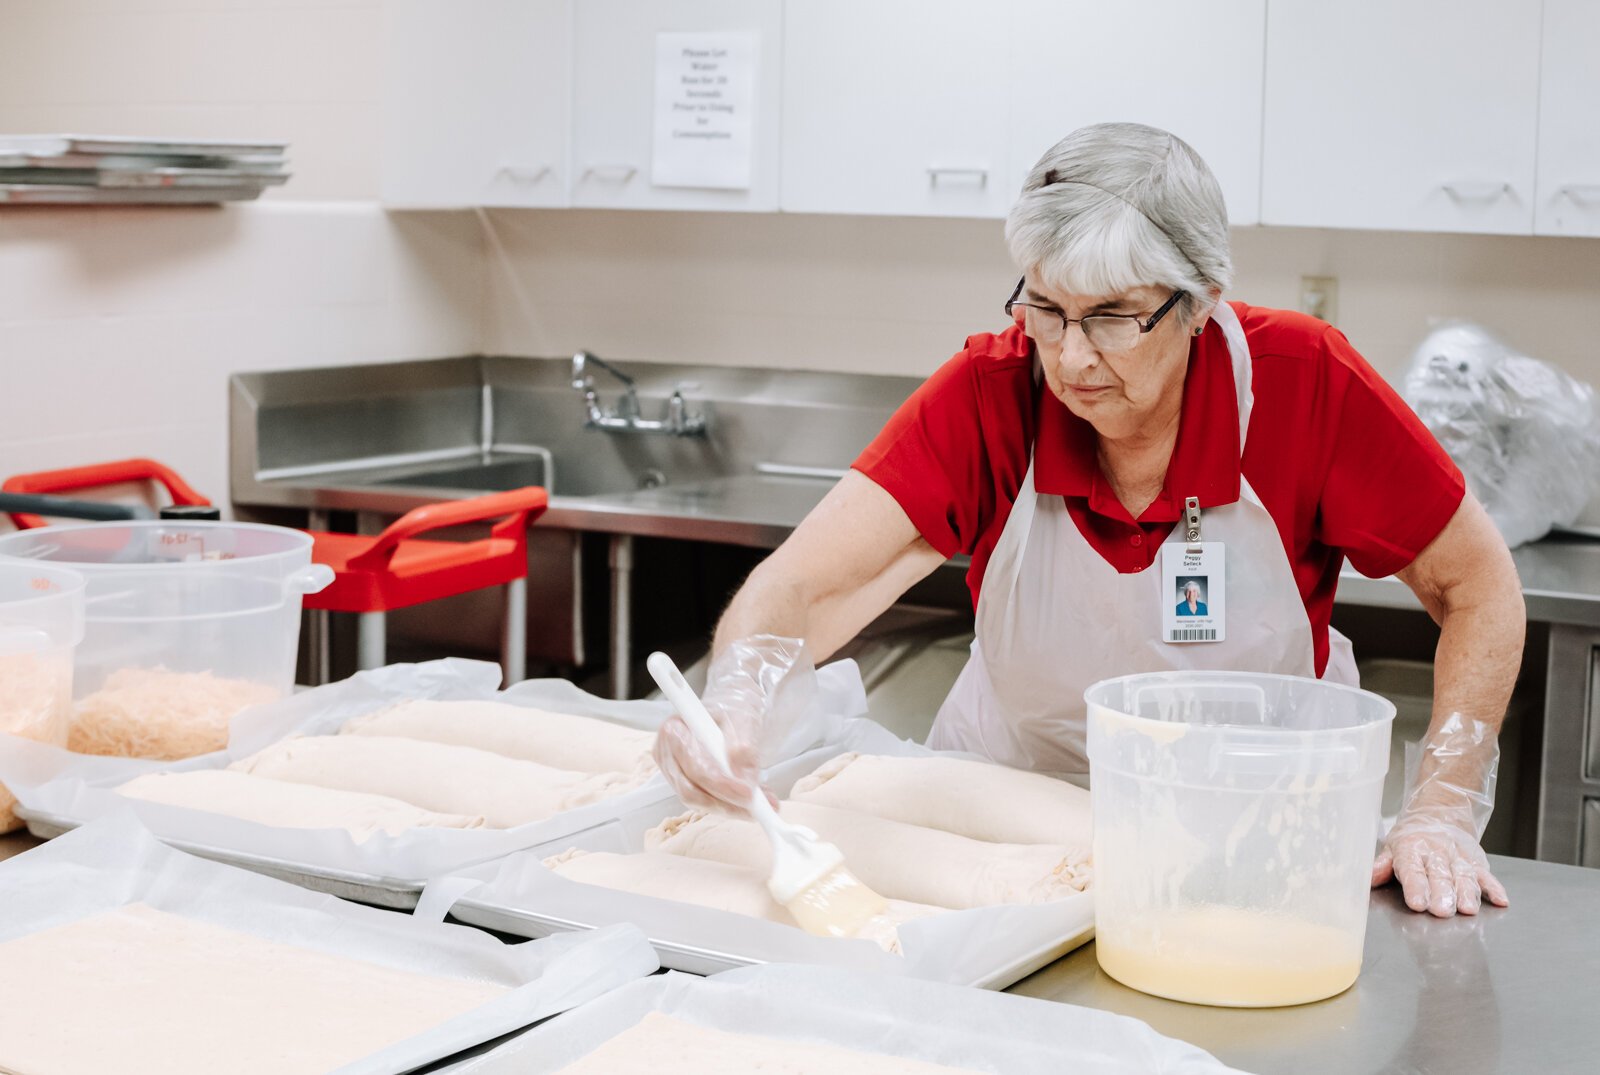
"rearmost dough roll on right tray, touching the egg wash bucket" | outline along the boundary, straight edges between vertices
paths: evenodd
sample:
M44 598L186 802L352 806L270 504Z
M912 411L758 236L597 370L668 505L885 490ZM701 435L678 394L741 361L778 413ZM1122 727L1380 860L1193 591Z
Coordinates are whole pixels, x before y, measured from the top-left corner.
M789 797L990 843L1091 843L1086 790L992 761L842 753Z

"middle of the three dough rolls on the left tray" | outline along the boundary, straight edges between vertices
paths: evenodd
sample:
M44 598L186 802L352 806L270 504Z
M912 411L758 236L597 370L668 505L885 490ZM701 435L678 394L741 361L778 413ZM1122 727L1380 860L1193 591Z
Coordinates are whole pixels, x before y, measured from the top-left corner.
M446 814L482 814L490 829L544 821L621 795L642 773L573 773L488 750L395 736L283 739L229 766L293 784L387 795Z

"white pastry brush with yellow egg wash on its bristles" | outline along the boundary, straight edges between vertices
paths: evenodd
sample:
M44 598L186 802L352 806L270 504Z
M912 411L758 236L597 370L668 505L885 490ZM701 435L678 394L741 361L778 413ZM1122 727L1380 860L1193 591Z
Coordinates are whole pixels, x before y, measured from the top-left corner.
M728 741L678 672L678 665L667 654L653 653L645 667L699 744L731 776ZM810 829L779 817L760 787L750 792L746 808L773 843L773 875L766 888L802 929L822 937L853 937L867 921L888 910L888 901L845 867L845 856L838 848L824 843Z

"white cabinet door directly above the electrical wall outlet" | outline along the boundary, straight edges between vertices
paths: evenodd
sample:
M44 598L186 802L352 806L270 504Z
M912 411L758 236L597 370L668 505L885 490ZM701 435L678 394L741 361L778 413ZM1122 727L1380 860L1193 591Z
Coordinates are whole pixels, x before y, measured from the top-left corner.
M1261 219L1533 230L1539 0L1272 0Z

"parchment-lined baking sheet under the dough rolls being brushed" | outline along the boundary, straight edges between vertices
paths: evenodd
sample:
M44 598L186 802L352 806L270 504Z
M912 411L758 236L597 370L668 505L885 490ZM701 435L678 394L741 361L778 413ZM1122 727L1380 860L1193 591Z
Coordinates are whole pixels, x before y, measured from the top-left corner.
M896 739L870 720L850 720L826 747L770 769L768 787L787 795L802 776L848 750L934 753ZM430 880L416 913L434 920L450 913L459 921L528 937L632 921L650 936L662 966L694 974L762 963L821 963L979 989L1005 989L1094 936L1093 888L1048 904L918 918L899 926L902 955L890 955L870 941L814 937L776 921L582 885L542 865L542 859L573 846L640 851L650 829L683 809L677 800L651 803L499 862Z

